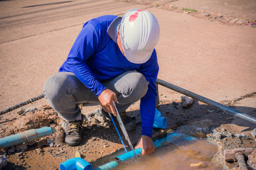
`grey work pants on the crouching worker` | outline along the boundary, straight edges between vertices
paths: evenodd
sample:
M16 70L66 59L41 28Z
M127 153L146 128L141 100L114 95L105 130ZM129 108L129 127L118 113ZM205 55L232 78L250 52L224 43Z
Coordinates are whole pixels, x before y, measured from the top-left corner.
M114 79L101 82L117 94L117 109L125 111L139 101L148 89L148 81L135 71L120 74ZM97 96L70 72L53 74L44 85L43 94L52 108L66 121L74 121L80 115L78 103L99 103Z

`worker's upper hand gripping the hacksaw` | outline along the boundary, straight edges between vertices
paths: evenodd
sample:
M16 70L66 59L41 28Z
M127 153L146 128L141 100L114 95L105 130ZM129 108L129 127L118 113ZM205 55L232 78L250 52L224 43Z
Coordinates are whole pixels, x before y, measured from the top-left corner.
M100 101L100 105L107 113L112 113L114 116L117 116L117 112L114 108L114 103L117 102L117 94L115 94L110 89L105 89L102 91L100 96L98 97Z

